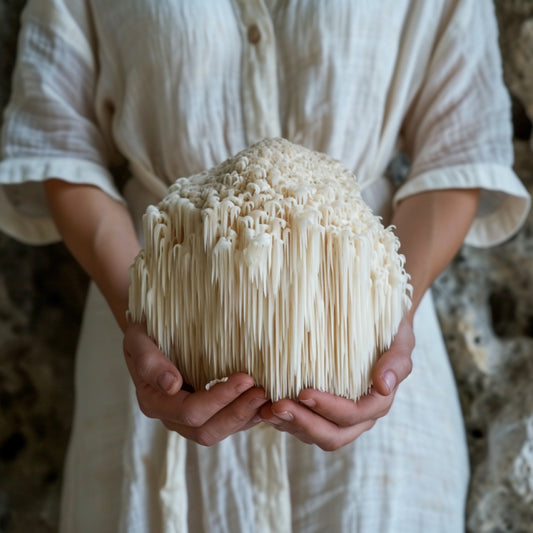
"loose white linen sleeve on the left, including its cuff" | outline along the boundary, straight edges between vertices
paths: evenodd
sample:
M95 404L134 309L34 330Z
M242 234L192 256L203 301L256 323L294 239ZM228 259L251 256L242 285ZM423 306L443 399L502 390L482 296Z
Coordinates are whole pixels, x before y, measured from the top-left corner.
M123 201L115 157L95 111L97 58L86 2L30 0L22 15L11 99L4 110L0 229L23 242L60 239L43 181L101 188Z

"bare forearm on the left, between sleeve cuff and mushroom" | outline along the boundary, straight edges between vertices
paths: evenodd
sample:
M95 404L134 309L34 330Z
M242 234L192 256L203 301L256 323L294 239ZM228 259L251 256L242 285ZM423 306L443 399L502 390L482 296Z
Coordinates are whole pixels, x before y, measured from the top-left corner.
M128 269L140 249L127 209L90 185L47 180L45 190L65 244L96 282L124 329Z

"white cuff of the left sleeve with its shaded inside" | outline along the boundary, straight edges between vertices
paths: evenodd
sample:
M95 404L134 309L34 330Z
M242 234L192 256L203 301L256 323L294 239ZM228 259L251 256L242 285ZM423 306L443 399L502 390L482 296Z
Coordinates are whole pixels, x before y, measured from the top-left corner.
M111 173L97 163L71 158L7 159L0 163L0 230L26 244L61 240L44 194L43 182L48 178L93 185L124 203Z

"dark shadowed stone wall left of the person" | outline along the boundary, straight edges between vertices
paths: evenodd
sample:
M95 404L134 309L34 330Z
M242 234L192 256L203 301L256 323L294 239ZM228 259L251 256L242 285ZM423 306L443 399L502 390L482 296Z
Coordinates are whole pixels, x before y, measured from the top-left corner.
M0 108L24 0L0 1ZM87 281L63 245L0 233L0 532L57 531Z

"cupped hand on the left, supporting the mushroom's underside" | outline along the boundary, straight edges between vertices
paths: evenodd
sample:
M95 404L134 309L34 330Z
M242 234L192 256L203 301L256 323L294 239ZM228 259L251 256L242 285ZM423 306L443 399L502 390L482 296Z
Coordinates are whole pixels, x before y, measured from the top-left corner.
M178 369L140 324L127 325L124 356L142 412L187 439L211 446L261 421L265 392L247 374L233 374L209 390L187 392Z

